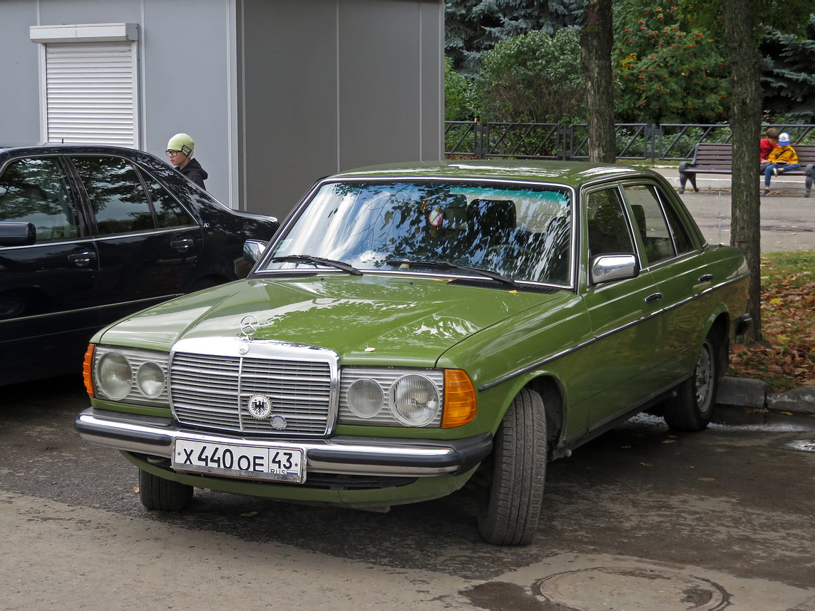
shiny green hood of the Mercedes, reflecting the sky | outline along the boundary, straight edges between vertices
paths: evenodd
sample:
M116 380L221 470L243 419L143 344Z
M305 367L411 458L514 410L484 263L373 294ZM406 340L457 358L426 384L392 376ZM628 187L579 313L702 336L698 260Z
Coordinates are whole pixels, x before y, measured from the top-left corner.
M427 367L468 336L564 294L456 286L449 280L338 274L241 280L134 314L95 340L169 350L179 339L241 336L241 320L253 314L256 339L333 349L346 364Z

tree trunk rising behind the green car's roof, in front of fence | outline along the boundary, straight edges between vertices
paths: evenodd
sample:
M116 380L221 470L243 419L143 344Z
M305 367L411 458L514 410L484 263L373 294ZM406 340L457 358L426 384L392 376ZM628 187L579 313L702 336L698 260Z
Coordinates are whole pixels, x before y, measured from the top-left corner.
M580 30L580 56L586 74L588 159L614 163L617 158L614 88L611 84L611 0L588 0Z

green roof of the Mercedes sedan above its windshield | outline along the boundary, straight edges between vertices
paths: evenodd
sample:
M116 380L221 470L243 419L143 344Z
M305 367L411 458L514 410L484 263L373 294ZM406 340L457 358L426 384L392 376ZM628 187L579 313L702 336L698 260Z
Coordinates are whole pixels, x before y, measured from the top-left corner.
M444 160L436 162L372 165L334 174L337 178L484 178L532 182L561 182L578 187L600 179L658 176L654 171L628 165L588 161L548 160Z

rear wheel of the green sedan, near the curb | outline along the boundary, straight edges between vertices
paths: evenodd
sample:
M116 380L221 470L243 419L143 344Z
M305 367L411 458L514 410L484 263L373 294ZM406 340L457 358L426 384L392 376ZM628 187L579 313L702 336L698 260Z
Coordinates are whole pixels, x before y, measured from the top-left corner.
M719 388L719 358L716 345L708 336L699 350L694 373L667 399L663 418L674 431L701 431L711 421Z

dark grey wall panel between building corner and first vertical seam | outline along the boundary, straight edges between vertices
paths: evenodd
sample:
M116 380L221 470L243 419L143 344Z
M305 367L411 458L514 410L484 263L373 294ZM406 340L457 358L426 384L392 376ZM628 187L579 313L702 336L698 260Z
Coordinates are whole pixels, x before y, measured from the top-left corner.
M337 7L335 0L243 5L245 198L249 209L282 218L312 182L338 168Z

